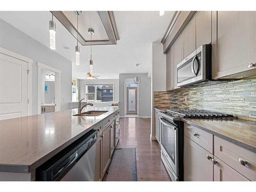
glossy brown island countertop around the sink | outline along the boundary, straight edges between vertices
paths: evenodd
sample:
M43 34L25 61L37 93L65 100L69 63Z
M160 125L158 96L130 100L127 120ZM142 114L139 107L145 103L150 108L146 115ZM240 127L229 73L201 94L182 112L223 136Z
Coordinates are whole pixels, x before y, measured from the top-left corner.
M90 106L82 112L92 110L108 112L79 117L72 109L0 121L0 172L32 172L119 108Z

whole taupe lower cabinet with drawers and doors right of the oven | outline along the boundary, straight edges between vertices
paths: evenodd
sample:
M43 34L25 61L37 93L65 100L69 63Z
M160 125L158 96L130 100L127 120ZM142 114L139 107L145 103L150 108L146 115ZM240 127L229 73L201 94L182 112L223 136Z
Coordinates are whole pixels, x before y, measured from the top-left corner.
M184 128L184 181L256 181L255 153L217 136L211 140L210 133L187 123ZM197 139L186 136L191 131Z

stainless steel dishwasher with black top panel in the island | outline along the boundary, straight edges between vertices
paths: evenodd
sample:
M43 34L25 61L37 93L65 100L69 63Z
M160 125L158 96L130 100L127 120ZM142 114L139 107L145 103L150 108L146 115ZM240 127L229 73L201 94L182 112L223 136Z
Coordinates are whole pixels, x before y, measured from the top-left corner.
M91 130L36 169L37 181L94 181L97 132Z

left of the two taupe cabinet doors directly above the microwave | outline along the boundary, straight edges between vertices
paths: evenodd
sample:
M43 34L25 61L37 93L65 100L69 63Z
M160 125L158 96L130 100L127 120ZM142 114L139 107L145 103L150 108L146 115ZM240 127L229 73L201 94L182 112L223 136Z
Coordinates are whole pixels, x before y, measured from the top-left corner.
M192 19L184 30L184 58L196 50L196 19Z

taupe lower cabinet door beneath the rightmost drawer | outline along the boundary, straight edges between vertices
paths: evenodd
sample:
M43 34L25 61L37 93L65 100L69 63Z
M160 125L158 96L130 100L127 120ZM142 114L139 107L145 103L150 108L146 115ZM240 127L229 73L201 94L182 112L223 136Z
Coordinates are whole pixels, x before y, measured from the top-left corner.
M249 181L220 159L214 159L217 161L214 165L214 181Z

